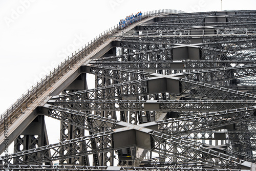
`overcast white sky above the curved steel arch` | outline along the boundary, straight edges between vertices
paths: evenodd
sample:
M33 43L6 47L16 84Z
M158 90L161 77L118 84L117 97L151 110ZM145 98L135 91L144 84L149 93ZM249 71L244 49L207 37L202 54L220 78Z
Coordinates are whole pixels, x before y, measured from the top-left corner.
M223 0L253 10L255 0ZM73 51L138 11L219 11L221 0L0 0L0 114Z

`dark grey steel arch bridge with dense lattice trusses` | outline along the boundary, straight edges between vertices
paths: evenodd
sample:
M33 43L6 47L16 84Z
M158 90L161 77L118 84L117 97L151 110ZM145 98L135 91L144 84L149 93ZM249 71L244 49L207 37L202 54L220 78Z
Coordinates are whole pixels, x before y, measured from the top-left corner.
M158 10L106 30L1 115L0 170L256 170L255 28Z

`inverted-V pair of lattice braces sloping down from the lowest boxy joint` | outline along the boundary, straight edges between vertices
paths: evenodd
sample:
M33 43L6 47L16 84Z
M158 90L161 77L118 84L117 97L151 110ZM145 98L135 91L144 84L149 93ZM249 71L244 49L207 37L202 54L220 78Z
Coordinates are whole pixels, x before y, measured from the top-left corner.
M255 108L251 109L255 110ZM127 124L123 124L127 125ZM128 124L129 125L129 124ZM143 139L143 141L148 141L146 143L137 142L138 147L142 147L145 149L150 149L153 152L157 152L160 154L165 154L167 156L176 158L177 161L183 161L183 160L189 160L193 161L194 163L203 164L206 166L214 166L214 167L239 167L246 166L248 167L249 162L245 160L238 159L236 157L231 157L229 155L226 155L224 153L220 153L218 151L214 151L213 149L210 149L207 147L207 145L204 145L202 143L194 142L194 141L188 141L183 140L181 138L176 138L173 135L167 135L163 134L151 129L142 128L141 126L131 126L124 127L124 129L116 129L112 131L106 131L102 133L93 134L92 136L84 136L81 138L76 138L69 141L63 141L59 142L57 144L51 144L47 146L41 146L34 149L29 149L27 151L19 152L12 154L8 157L8 160L11 160L14 158L16 161L20 162L29 162L32 164L38 163L38 162L47 162L51 160L57 160L57 159L63 159L63 158L71 158L75 157L76 155L84 156L89 154L97 154L101 152L108 152L111 150L115 150L118 148L123 147L129 147L131 145L135 145L136 142L127 142L127 138L124 138L122 140L118 140L121 143L107 143L105 139L108 138L114 138L118 137L119 134L126 133L128 135L132 134L133 136L136 136L134 133L137 132L137 134L140 134L143 136L146 134L146 139ZM92 141L95 140L99 142L98 148L94 149L92 147ZM136 141L141 141L140 138L138 138ZM154 143L152 143L152 141ZM78 149L73 148L74 144L79 144L79 146L84 146L81 151ZM60 153L60 148L62 146L65 146L69 149L69 153L66 155L63 155ZM165 147L164 147L165 146ZM173 146L176 146L173 148ZM164 147L164 148L163 148ZM54 151L53 155L49 157L48 151L49 149L52 149ZM85 153L86 152L86 153ZM190 153L189 153L190 152ZM192 153L191 153L192 152ZM193 153L194 152L194 153ZM204 158L202 158L202 154L205 155ZM37 154L37 158L34 157L33 154ZM29 156L26 161L22 160L23 156ZM31 157L33 156L33 157Z

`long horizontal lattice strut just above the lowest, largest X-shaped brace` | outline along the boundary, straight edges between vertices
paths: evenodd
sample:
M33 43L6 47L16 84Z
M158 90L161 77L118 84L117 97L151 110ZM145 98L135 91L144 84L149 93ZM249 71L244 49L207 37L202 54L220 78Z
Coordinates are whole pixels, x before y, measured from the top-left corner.
M243 108L255 104L254 100L49 100L56 106L75 109L77 111L113 110L113 111L145 111L148 106L154 104L154 111L189 111L210 112L224 111L228 109ZM60 108L56 108L60 109Z

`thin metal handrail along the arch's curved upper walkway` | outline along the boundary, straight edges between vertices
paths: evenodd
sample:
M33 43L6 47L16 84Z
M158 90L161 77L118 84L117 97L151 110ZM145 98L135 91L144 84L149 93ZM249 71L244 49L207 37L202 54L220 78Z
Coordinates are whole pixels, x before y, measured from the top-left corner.
M155 11L147 11L142 13L142 19L157 16L161 14L170 14L170 13L185 13L181 10L172 10L172 9L162 9ZM63 60L57 68L54 68L45 78L41 78L41 80L34 84L26 93L24 93L20 98L18 98L0 117L0 124L9 121L12 121L18 117L18 115L22 114L23 111L30 105L33 100L35 100L39 95L44 93L56 80L58 80L63 73L66 73L71 69L83 57L87 56L90 52L95 50L98 46L102 45L103 42L109 39L112 35L117 33L119 30L122 30L117 26L111 27L111 29L106 30L96 36L91 42L82 46L78 50L76 50L72 55L68 56L65 60ZM3 131L3 126L0 125L0 135Z

